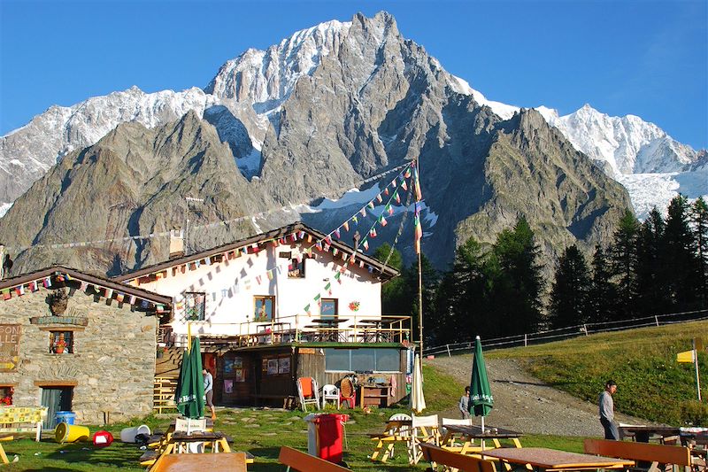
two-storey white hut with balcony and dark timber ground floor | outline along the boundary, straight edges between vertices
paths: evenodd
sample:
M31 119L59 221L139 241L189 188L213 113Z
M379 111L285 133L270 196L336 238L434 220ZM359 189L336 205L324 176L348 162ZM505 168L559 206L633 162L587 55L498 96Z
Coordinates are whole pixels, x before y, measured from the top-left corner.
M331 235L295 223L121 275L115 280L173 298L158 329L155 407L170 405L188 331L221 405L288 406L296 380L345 375L386 379L388 391L358 398L388 406L410 372L411 317L381 314L391 267ZM163 347L164 346L164 347Z

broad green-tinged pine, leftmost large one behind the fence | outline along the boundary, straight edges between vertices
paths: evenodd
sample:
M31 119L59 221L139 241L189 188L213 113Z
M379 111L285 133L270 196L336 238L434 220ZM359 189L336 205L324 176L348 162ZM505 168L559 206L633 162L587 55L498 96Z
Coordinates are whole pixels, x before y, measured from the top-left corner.
M504 229L493 247L490 312L508 334L529 333L542 327L542 266L534 232L525 218L513 230Z

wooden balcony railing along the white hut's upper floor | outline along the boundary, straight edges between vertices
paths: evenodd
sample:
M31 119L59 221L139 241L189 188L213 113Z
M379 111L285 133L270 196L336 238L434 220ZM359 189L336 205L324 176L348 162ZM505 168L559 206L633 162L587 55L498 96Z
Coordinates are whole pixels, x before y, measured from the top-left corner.
M281 343L404 343L411 339L411 317L402 315L285 316L242 323L209 323L209 332L192 334L203 344L253 346ZM174 344L186 346L187 336L177 335Z

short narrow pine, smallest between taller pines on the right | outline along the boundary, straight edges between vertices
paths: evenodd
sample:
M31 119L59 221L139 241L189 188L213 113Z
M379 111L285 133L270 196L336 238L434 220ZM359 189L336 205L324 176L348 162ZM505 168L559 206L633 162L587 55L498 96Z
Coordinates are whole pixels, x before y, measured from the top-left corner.
M603 323L618 319L617 288L612 283L612 267L602 246L595 246L592 257L592 282L589 293L589 322Z

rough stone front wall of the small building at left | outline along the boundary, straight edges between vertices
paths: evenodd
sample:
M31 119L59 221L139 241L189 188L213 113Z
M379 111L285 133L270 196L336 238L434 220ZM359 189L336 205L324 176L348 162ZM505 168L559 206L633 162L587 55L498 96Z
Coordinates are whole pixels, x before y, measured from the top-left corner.
M51 316L46 298L52 291L0 299L0 324L21 325L19 365L14 372L0 372L0 385L14 384L13 404L39 406L41 385L69 385L77 422L103 424L104 410L112 412L112 422L150 414L155 317L131 311L127 303L121 307L112 300L109 306L105 298L67 290L65 315L88 318L85 327L31 323L30 318ZM50 330L65 329L75 329L74 353L51 353Z

